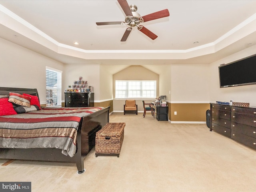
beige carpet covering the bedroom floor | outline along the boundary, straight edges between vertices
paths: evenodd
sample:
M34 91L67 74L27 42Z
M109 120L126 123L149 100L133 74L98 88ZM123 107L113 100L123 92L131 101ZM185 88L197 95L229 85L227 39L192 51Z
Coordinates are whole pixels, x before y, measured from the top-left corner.
M0 181L32 182L32 192L256 191L256 151L206 124L171 124L150 113L114 113L110 122L126 123L119 158L96 158L93 149L82 175L72 163L15 160L0 166Z

